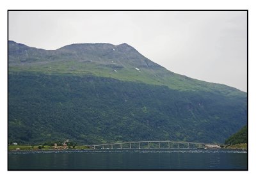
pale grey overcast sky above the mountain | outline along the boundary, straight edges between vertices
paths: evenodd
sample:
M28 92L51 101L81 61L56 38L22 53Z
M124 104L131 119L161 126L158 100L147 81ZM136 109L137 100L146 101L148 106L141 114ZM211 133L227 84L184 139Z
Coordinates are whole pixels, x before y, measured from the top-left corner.
M41 49L128 43L177 74L247 91L246 12L9 12L9 40Z

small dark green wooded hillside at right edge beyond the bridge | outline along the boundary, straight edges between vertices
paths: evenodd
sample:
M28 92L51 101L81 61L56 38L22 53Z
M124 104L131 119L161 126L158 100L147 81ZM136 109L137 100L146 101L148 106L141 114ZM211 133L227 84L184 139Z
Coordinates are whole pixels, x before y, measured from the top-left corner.
M245 125L238 132L228 137L228 139L225 141L225 144L248 143L247 130L248 130L247 125Z

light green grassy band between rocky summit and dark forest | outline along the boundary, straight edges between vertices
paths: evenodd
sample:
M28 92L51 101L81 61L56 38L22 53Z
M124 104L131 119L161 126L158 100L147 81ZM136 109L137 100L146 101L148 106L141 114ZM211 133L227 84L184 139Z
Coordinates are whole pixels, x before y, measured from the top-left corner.
M175 74L165 68L140 68L140 72L131 65L118 68L118 65L104 65L94 62L48 62L24 65L10 65L9 72L36 72L42 74L62 75L96 75L111 77L120 81L144 82L147 84L164 85L180 91L216 91L224 95L246 97L246 93L223 84L215 84L191 79ZM116 70L116 72L115 72Z

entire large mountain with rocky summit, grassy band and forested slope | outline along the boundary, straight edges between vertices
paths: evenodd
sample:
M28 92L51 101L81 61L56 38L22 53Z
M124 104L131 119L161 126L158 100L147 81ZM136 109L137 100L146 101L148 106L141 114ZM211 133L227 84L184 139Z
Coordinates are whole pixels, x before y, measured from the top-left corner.
M224 143L244 123L246 93L170 72L126 43L8 42L9 141Z

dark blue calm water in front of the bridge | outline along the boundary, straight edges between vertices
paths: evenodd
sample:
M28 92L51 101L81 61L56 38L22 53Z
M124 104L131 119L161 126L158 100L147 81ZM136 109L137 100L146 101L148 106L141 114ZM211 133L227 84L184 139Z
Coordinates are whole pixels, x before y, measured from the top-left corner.
M247 170L244 150L11 151L9 170Z

